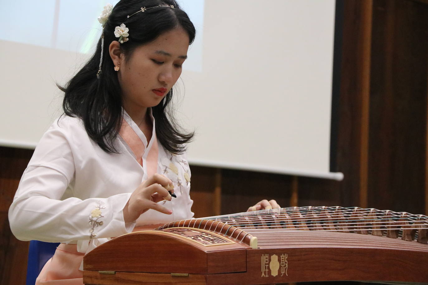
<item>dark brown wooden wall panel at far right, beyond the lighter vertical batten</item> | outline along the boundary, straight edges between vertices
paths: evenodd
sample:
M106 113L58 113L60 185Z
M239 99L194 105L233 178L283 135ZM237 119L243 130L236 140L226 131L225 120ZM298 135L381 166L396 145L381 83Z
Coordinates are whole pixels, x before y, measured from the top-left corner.
M428 5L373 7L369 204L424 213Z

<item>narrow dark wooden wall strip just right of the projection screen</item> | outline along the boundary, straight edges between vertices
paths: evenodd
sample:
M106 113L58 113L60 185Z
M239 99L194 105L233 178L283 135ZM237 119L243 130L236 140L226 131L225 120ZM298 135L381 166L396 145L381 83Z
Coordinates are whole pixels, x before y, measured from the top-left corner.
M361 173L366 173L366 165L361 165L363 141L361 138L364 86L367 84L366 56L370 46L367 26L369 0L344 1L342 73L339 99L339 130L337 149L337 170L345 178L340 185L342 205L360 206Z

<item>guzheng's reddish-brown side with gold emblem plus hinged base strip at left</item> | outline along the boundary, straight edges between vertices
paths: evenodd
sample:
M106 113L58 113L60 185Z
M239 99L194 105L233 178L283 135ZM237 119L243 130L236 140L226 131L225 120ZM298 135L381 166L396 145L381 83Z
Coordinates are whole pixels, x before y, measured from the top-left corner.
M265 263L263 256L267 255ZM271 264L276 255L279 264ZM286 255L282 260L281 256ZM188 259L191 262L190 259ZM313 281L420 282L428 284L427 255L420 251L373 248L248 249L247 272L188 274L85 271L85 284L278 284ZM282 262L285 261L285 262ZM229 260L221 261L229 264ZM282 267L286 264L286 267ZM211 264L213 265L213 264ZM267 266L266 266L267 265ZM274 274L272 267L276 268ZM275 276L274 276L275 275Z

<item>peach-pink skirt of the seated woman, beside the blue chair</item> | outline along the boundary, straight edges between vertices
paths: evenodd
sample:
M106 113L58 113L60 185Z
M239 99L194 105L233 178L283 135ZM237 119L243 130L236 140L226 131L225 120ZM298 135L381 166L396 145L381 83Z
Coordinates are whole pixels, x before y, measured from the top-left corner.
M133 232L152 230L162 225L135 227ZM83 256L83 253L77 252L77 244L59 244L55 254L40 271L36 285L83 285L83 271L79 270Z

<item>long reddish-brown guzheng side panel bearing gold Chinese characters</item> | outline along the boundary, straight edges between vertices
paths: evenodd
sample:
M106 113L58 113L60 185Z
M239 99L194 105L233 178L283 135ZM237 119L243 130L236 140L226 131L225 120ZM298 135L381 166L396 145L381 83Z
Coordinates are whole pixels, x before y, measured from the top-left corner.
M268 266L263 267L263 255ZM278 256L276 276L270 269L271 257ZM284 270L281 256L286 255ZM276 258L275 258L276 259ZM428 282L426 252L375 248L276 248L247 251L247 276L251 283L274 284L312 281ZM262 271L265 269L265 272ZM267 270L266 270L267 269ZM224 274L210 276L215 284ZM217 279L218 278L218 279ZM231 283L232 284L232 283ZM238 284L238 283L237 283Z

